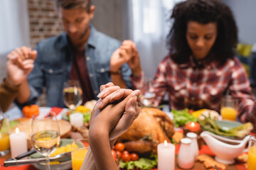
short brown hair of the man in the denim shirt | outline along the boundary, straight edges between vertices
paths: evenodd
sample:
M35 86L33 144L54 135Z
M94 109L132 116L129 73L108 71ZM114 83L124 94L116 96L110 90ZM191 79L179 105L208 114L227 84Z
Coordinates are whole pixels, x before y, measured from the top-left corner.
M74 8L85 8L89 13L91 0L55 0L56 8L74 9Z

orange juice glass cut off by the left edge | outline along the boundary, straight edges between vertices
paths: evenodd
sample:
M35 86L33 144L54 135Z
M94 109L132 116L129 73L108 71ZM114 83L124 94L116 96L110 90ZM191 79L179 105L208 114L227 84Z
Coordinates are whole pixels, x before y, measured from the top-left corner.
M0 106L0 155L4 156L9 153L10 142L9 142L9 134L1 132L1 127L4 124L4 113L1 111Z

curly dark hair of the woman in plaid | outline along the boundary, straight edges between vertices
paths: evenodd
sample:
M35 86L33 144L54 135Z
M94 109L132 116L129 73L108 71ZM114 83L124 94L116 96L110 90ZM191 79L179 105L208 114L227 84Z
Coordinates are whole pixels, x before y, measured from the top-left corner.
M238 28L228 6L218 0L187 0L176 4L171 13L173 26L167 35L169 54L178 64L188 62L191 49L186 40L188 21L201 24L216 22L218 35L210 50L220 63L234 57L238 43Z

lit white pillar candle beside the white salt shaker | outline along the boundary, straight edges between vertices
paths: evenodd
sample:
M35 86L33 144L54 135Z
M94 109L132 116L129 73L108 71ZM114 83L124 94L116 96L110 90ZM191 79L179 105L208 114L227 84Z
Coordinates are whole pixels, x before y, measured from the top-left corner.
M158 170L174 170L175 167L175 146L171 143L157 145L157 169Z

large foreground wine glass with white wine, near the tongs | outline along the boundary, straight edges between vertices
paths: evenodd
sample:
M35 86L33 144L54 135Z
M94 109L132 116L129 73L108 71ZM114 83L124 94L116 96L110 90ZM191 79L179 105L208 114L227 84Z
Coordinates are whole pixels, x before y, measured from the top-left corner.
M54 112L47 118L32 118L31 140L37 152L46 157L46 167L50 170L50 154L60 145L60 128Z

